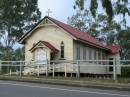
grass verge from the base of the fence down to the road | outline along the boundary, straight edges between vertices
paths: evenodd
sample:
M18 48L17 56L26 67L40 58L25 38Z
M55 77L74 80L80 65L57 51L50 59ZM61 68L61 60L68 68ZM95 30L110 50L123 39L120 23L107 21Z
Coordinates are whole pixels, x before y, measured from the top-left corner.
M63 77L19 77L19 76L2 76L0 75L0 80L10 80L10 81L21 81L21 82L33 82L33 83L43 83L43 84L55 84L55 85L67 85L67 86L79 86L87 88L100 88L100 89L113 89L113 90L123 90L130 91L129 79L122 81L113 81L111 79L88 79L88 78L63 78Z

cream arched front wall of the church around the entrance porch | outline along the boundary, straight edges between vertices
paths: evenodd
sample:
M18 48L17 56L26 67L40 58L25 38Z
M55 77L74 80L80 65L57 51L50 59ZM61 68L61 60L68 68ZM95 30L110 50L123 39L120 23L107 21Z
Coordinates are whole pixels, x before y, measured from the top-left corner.
M43 26L35 30L32 35L29 36L25 44L25 60L32 60L32 53L29 51L34 43L39 41L47 41L60 50L60 43L63 41L65 45L65 59L73 60L73 38L68 32L65 32L63 29L55 26ZM56 59L60 59L60 51Z

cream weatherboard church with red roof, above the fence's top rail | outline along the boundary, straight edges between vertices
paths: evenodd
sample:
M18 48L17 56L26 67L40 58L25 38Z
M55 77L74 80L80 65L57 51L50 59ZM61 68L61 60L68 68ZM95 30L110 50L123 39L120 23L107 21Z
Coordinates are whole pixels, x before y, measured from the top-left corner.
M48 16L19 42L25 45L25 61L120 59L119 45L106 46L90 34ZM99 68L95 67L95 73L108 73ZM83 71L87 73L87 69Z

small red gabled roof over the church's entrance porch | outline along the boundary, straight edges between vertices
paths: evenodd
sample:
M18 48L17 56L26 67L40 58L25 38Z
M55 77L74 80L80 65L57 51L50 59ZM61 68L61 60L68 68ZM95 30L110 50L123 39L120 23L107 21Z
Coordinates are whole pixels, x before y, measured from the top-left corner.
M48 47L50 50L52 50L52 52L57 53L59 50L56 49L53 45L51 45L49 42L47 41L39 41L38 43L36 43L31 49L30 51L32 51L39 43L43 43L46 47Z

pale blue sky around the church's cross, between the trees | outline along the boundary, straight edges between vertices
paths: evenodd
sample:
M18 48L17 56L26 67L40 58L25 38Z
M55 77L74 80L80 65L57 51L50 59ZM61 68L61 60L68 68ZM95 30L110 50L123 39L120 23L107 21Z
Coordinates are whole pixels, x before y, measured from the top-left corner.
M42 17L46 16L46 11L50 9L50 16L62 22L67 22L67 17L74 13L73 5L74 0L38 0Z

